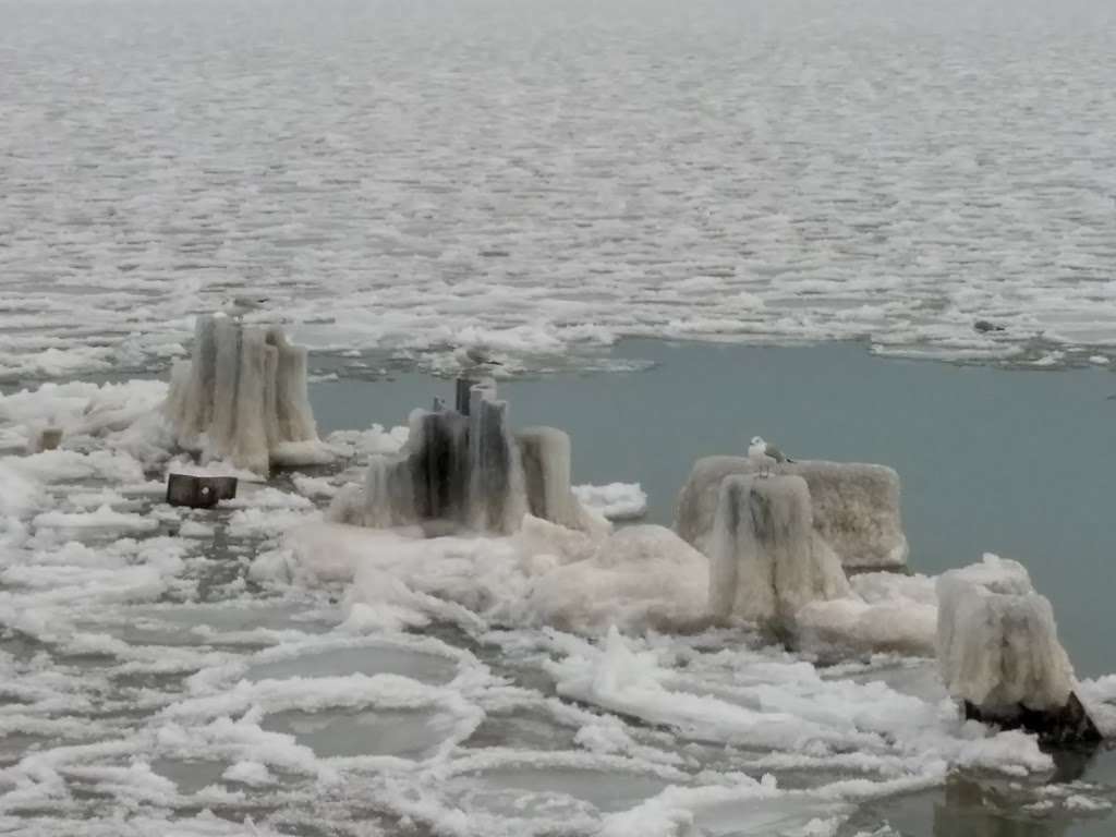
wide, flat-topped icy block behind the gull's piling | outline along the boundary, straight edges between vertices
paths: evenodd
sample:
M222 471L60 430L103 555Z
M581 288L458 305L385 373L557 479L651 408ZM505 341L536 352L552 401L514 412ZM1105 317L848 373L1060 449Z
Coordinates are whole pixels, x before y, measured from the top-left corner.
M706 456L694 463L675 511L683 540L709 554L721 484L752 474L745 456ZM846 569L897 569L906 566L907 540L899 514L899 478L885 465L804 461L778 466L809 488L814 528Z

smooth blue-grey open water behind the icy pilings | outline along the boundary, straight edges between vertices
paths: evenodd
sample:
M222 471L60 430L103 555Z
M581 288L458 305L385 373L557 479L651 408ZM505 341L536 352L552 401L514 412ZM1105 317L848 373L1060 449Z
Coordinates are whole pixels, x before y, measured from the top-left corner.
M575 482L638 481L648 518L668 523L693 461L743 453L756 434L792 456L888 464L903 480L912 569L1016 558L1054 603L1078 675L1116 671L1107 369L885 359L850 344L629 340L616 355L656 365L501 383L517 426L571 435ZM405 423L434 395L451 398L452 384L401 374L311 385L323 431Z

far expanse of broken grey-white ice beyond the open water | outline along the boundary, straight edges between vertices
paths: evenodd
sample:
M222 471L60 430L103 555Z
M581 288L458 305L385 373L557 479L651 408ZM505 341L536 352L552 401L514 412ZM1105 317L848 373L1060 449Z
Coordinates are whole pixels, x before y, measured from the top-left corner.
M460 339L531 368L623 335L1049 364L1114 343L1106 0L0 19L4 376L179 355L243 292L312 346L432 366Z

